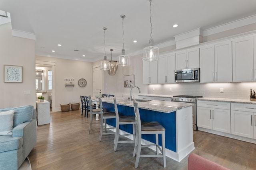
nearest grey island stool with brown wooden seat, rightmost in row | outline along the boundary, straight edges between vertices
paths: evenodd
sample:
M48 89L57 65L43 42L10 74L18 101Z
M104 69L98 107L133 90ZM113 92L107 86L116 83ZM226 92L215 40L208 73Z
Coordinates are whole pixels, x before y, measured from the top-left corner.
M135 145L133 155L136 155L135 168L138 167L140 157L161 157L163 158L164 168L166 168L166 156L165 156L165 128L156 121L151 122L141 122L140 121L140 112L137 102L134 104L134 113L135 113ZM141 145L141 135L142 134L155 134L156 135L156 144L152 145ZM158 145L158 134L162 136L162 149ZM156 154L140 154L142 147L156 147ZM158 150L162 154L159 154Z

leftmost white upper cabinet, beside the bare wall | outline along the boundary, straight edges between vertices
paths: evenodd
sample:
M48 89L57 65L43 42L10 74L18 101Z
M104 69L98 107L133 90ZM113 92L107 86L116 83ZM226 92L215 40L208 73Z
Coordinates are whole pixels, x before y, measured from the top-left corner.
M157 84L158 61L143 61L143 84Z

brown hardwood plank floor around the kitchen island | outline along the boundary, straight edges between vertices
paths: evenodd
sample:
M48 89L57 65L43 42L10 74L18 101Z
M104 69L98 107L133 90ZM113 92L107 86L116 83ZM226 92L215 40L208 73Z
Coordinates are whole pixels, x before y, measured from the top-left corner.
M90 115L81 116L81 110L51 112L50 124L38 126L37 144L28 156L32 170L136 169L132 157L134 144L118 144L113 152L114 135L104 135L98 142L100 128L92 128L89 135L89 123ZM194 153L231 170L256 169L255 144L202 131L193 131L193 135ZM166 168L161 158L140 158L137 169L187 170L188 156L181 162L166 157Z

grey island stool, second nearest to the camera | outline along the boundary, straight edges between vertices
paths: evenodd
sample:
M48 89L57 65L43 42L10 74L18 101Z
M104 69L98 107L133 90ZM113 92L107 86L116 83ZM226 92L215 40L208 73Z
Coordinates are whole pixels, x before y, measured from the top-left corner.
M135 142L135 116L134 115L119 116L119 112L116 104L116 98L114 98L114 106L115 106L115 112L116 112L116 134L114 139L114 152L116 152L118 143L134 143ZM119 131L120 125L132 125L132 134L120 135L120 131ZM128 136L128 135L133 135L133 141L119 140L119 137Z

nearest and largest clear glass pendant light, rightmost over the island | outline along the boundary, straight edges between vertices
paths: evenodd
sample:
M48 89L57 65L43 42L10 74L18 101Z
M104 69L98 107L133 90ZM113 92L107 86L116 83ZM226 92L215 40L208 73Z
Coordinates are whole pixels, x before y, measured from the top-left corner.
M151 21L151 18L152 18L151 2L152 2L152 0L149 0L149 2L150 2L150 29L151 29L151 32L150 32L149 46L145 47L143 49L143 60L144 61L156 61L156 60L158 60L159 48L153 45L154 40L152 39L152 21Z

